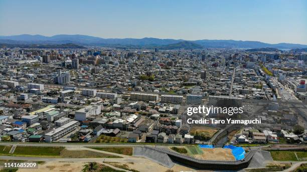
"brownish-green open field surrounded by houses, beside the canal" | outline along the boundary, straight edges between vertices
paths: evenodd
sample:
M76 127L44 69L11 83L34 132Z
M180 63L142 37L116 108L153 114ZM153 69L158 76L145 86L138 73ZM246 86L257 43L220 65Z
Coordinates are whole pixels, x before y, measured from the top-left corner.
M193 126L191 134L195 139L209 140L218 130L208 126Z

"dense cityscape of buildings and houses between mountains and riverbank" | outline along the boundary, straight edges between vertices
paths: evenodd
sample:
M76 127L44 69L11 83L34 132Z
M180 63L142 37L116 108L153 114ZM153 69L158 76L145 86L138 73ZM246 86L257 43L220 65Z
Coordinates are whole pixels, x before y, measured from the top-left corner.
M260 50L2 48L1 140L307 143L307 54ZM189 124L225 118L187 115L204 104L242 106L232 118L262 122Z

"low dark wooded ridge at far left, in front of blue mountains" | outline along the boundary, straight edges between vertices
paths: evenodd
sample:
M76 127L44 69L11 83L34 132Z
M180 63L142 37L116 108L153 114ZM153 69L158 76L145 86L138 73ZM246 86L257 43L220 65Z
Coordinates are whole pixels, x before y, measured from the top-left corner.
M86 48L82 45L77 45L74 43L65 43L65 44L8 44L8 43L0 43L0 48Z

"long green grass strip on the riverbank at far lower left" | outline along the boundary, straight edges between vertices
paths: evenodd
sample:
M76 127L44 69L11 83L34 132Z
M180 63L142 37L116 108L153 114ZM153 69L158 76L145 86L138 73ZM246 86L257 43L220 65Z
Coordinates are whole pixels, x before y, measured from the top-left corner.
M60 156L64 147L35 147L35 146L17 146L13 154L6 155L23 155L23 156Z

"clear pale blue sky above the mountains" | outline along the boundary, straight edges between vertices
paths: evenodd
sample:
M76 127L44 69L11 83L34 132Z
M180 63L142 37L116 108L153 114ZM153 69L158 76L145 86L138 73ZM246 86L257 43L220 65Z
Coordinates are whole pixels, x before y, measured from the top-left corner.
M307 44L307 0L0 0L0 35Z

